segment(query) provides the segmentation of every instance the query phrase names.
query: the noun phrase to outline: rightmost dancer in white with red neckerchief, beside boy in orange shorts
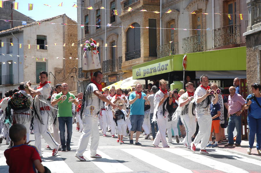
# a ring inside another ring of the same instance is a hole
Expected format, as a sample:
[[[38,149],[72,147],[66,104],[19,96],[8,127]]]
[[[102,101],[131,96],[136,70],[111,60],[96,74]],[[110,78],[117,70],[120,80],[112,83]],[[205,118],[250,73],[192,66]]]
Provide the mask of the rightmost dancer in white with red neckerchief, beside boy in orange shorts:
[[[212,117],[210,114],[210,103],[216,104],[218,102],[218,94],[210,95],[209,78],[206,75],[200,77],[201,85],[197,87],[194,97],[196,102],[196,117],[199,125],[199,131],[194,141],[191,143],[191,151],[196,151],[197,144],[200,143],[200,153],[209,154],[206,149],[206,145],[209,142],[209,136],[211,133]]]

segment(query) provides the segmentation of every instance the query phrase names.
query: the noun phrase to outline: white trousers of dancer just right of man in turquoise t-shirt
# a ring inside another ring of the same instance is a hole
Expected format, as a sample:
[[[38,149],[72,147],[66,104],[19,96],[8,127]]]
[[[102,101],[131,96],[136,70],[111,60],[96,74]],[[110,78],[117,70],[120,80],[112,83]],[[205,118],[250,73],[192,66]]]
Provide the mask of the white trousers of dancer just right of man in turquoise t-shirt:
[[[154,145],[159,145],[160,141],[162,141],[162,146],[168,146],[166,140],[166,129],[167,129],[168,118],[163,115],[157,115],[157,124],[158,124],[158,132],[153,141]]]

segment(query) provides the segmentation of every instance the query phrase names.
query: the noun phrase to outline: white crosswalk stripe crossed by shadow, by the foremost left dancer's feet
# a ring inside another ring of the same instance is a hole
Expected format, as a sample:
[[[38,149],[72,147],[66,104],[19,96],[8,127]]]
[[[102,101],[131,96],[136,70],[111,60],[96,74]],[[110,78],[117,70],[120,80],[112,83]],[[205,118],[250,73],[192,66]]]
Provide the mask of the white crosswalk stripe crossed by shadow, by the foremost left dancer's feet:
[[[84,157],[86,157],[88,160],[90,160],[92,163],[94,163],[98,168],[100,168],[105,173],[111,173],[111,172],[133,172],[130,168],[123,165],[122,163],[119,163],[115,159],[111,158],[107,154],[97,150],[97,153],[102,155],[101,159],[94,159],[90,157],[90,150],[87,150],[84,152]]]

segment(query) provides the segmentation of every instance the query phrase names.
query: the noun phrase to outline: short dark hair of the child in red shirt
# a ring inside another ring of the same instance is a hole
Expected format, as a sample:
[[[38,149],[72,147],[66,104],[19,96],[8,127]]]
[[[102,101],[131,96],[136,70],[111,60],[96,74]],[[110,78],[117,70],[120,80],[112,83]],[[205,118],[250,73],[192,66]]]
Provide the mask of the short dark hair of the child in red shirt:
[[[19,142],[26,135],[26,127],[23,124],[13,124],[9,129],[9,136],[13,142]]]

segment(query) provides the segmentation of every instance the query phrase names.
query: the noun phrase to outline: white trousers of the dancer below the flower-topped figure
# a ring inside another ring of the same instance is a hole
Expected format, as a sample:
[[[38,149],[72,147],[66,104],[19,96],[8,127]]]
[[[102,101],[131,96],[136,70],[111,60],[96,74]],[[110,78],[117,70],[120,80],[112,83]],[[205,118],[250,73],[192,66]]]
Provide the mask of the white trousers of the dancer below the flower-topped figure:
[[[98,119],[95,119],[90,116],[84,116],[82,119],[83,123],[83,130],[82,134],[77,146],[77,150],[75,155],[77,156],[83,156],[83,153],[85,152],[89,138],[91,136],[91,141],[90,141],[90,156],[95,156],[96,150],[99,145],[99,128],[98,128]]]

